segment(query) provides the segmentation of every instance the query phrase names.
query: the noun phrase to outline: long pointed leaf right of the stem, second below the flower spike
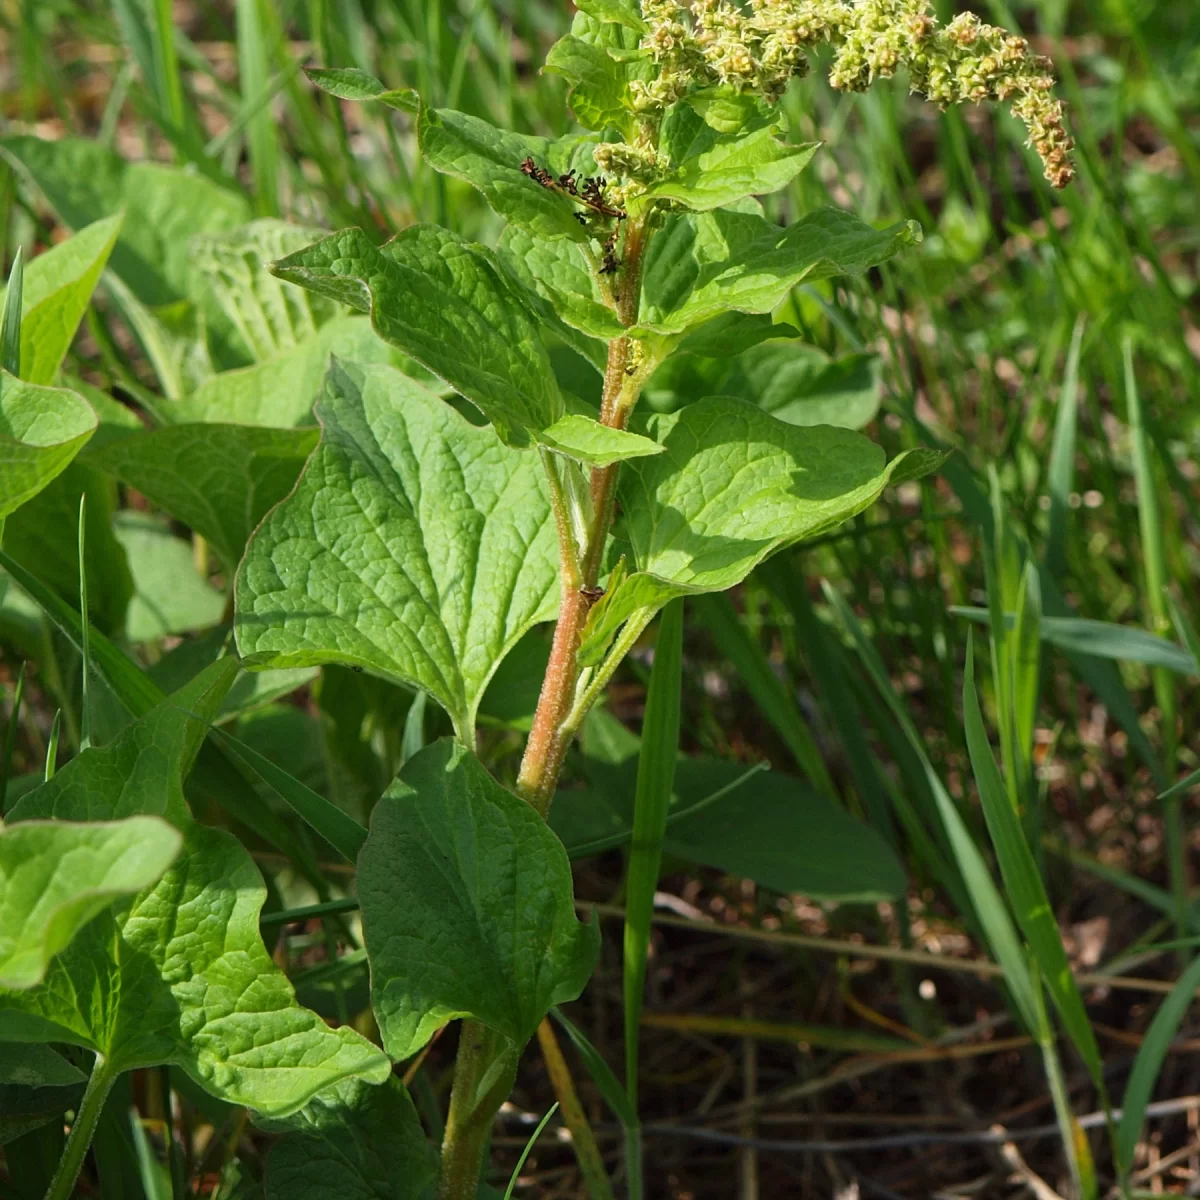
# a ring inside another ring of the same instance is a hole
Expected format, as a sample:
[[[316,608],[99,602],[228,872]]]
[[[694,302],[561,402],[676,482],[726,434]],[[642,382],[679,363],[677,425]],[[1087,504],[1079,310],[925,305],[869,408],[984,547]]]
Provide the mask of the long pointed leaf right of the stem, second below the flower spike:
[[[679,214],[646,256],[640,323],[664,334],[738,312],[772,312],[802,281],[858,275],[920,238],[914,222],[872,229],[818,209],[786,229],[754,212]]]

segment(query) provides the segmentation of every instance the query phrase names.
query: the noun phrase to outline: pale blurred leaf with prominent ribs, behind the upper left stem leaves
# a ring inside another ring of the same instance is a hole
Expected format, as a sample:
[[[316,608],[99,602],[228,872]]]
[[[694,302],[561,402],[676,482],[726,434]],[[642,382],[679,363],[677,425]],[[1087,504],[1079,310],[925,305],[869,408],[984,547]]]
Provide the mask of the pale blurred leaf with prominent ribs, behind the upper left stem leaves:
[[[192,239],[197,286],[229,314],[259,362],[308,341],[342,312],[328,298],[284,283],[268,270],[320,235],[319,229],[283,221],[254,221],[232,233]]]

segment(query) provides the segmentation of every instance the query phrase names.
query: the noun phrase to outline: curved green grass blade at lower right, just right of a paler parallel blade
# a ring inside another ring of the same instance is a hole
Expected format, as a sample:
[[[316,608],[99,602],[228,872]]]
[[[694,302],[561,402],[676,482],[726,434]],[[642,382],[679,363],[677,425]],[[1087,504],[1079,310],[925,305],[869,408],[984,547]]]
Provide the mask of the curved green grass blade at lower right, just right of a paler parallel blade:
[[[1000,874],[1016,923],[1030,943],[1068,1037],[1079,1050],[1093,1081],[1100,1085],[1103,1080],[1100,1051],[1087,1018],[1087,1009],[1084,1007],[1084,997],[1067,961],[1058,923],[1055,920],[1033,852],[1008,802],[1004,780],[988,743],[976,691],[974,649],[971,643],[967,647],[962,684],[962,710],[976,786],[979,788],[988,832],[996,848]]]

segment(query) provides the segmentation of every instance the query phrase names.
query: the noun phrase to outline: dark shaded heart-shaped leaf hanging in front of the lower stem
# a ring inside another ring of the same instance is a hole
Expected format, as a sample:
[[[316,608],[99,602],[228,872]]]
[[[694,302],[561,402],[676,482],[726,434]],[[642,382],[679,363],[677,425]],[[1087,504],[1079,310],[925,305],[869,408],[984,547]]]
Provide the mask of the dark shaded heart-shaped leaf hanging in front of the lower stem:
[[[478,758],[443,740],[410,758],[359,856],[372,1003],[396,1060],[469,1016],[517,1046],[583,990],[599,928],[575,917],[562,842]]]

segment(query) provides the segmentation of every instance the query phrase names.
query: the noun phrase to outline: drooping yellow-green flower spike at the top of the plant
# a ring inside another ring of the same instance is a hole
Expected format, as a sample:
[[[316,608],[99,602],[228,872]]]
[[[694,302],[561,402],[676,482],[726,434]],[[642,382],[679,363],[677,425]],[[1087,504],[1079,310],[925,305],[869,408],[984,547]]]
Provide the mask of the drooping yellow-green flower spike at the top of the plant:
[[[943,108],[1002,101],[1030,131],[1046,179],[1063,187],[1074,172],[1062,102],[1049,60],[1024,37],[972,13],[938,25],[929,0],[642,0],[642,48],[659,77],[635,85],[635,103],[661,110],[696,88],[732,86],[775,102],[808,68],[806,50],[835,49],[830,83],[860,91],[905,67],[912,90]]]

